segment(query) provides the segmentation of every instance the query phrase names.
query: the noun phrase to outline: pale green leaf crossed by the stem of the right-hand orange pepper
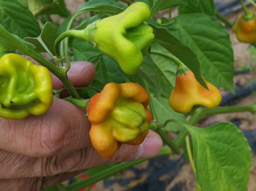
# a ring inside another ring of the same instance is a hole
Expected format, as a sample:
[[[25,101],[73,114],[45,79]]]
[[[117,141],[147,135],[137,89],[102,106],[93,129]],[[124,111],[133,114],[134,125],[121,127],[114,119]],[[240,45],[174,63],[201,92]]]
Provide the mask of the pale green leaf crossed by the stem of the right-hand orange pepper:
[[[168,52],[164,47],[156,42],[151,43],[151,51],[158,50]],[[160,81],[160,93],[162,96],[169,98],[171,90],[175,86],[177,64],[166,57],[151,54],[151,58],[155,63],[155,72]]]

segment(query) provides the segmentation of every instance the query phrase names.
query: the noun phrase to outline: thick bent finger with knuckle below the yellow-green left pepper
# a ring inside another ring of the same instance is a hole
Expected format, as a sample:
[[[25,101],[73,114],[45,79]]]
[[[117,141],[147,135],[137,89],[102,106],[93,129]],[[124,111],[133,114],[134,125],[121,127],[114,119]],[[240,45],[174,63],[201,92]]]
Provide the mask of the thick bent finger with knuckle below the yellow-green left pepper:
[[[0,118],[0,146],[31,157],[61,155],[90,145],[86,110],[54,98],[42,115],[22,120]]]

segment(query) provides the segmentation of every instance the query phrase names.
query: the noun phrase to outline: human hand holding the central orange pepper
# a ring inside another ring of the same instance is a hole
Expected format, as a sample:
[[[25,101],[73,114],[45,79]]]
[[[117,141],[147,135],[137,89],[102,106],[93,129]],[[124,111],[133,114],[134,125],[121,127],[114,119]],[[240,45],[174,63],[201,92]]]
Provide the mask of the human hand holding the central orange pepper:
[[[89,62],[73,62],[68,72],[76,87],[88,85],[94,74],[95,67]],[[63,87],[55,76],[52,80],[54,89]],[[43,115],[0,118],[0,190],[42,190],[89,168],[153,157],[162,149],[160,136],[150,131],[140,146],[123,145],[112,158],[103,158],[90,142],[86,113],[54,98]]]

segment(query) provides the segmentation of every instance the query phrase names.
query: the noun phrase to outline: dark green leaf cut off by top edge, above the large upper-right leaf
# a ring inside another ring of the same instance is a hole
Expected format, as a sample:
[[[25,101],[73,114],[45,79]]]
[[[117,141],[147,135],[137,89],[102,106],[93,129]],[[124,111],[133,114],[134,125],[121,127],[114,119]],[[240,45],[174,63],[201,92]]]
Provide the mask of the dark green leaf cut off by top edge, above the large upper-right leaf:
[[[205,13],[207,15],[214,16],[216,8],[214,5],[214,0],[183,0],[187,5],[179,6],[179,15],[189,14],[189,13]]]

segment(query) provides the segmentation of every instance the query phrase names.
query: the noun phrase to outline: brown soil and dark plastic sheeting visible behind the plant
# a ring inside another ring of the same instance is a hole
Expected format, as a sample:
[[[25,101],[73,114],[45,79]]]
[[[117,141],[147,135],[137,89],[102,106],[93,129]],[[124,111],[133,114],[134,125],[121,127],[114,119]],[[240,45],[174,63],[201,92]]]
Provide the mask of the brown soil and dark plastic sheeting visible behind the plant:
[[[219,0],[215,1],[218,2]],[[224,0],[223,2],[231,2],[232,0]],[[84,0],[65,0],[67,8],[71,13],[75,13],[84,3]],[[250,7],[251,10],[255,8]],[[173,16],[175,16],[173,11]],[[162,12],[163,15],[165,12]],[[177,13],[177,11],[176,11]],[[225,17],[234,23],[235,19],[243,14],[243,11],[237,10],[233,13],[226,15]],[[229,29],[231,43],[234,50],[235,70],[239,66],[243,66],[245,63],[250,63],[251,58],[248,54],[248,47],[250,45],[241,43],[236,39],[235,34]],[[249,85],[248,81],[254,81],[256,74],[254,72],[244,72],[236,74],[234,77],[234,85],[236,88],[246,87]],[[226,93],[221,89],[221,92]],[[232,104],[246,105],[254,102],[256,94],[251,93],[248,96],[242,96],[233,100]],[[238,121],[239,128],[244,134],[256,132],[256,115],[250,112],[239,113],[227,113],[208,116],[202,119],[196,126],[206,127],[209,124],[213,124],[219,121]],[[248,182],[248,191],[256,190],[256,133],[254,137],[248,138],[253,153],[252,167],[250,171],[250,180]],[[247,138],[247,137],[246,137]],[[123,170],[112,176],[107,180],[102,180],[96,183],[96,186],[91,191],[194,191],[196,188],[195,176],[192,172],[192,168],[189,162],[181,156],[174,156],[174,159],[170,160],[168,157],[160,157],[158,159],[145,161],[139,165],[135,165],[132,168]]]

